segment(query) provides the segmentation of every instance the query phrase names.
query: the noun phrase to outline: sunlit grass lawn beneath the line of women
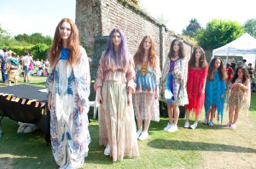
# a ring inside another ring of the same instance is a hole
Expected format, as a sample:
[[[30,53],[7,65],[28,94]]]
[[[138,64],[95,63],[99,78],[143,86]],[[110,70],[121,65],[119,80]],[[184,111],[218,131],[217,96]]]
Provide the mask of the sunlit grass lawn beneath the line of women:
[[[45,77],[32,76],[31,85],[44,87]],[[23,83],[20,78],[19,84]],[[0,86],[6,86],[0,83]],[[98,142],[98,121],[91,120],[89,156],[83,168],[256,168],[256,96],[252,95],[249,115],[240,115],[237,128],[201,125],[195,130],[183,128],[185,119],[179,119],[178,131],[165,132],[168,119],[151,122],[149,138],[138,141],[140,156],[113,162],[103,155]],[[190,117],[193,124],[195,117]],[[224,112],[224,122],[228,114]],[[0,168],[58,168],[50,146],[44,142],[44,132],[17,134],[16,121],[5,117],[0,138]]]

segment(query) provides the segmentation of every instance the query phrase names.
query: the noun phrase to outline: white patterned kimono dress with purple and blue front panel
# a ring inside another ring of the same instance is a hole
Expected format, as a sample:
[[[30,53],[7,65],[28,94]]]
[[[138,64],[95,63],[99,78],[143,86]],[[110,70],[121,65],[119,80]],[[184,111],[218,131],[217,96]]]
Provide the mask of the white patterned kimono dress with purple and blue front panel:
[[[166,100],[167,104],[172,99],[172,104],[189,104],[186,84],[188,77],[188,61],[186,58],[177,59],[174,68],[170,71],[171,60],[166,57],[166,63],[162,70],[160,80],[160,98]],[[172,92],[173,91],[173,92]]]

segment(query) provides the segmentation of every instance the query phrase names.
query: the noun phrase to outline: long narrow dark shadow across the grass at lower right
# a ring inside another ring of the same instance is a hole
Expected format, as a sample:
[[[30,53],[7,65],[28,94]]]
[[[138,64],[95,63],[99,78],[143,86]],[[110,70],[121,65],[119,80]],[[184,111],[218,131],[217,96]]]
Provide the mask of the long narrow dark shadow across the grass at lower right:
[[[154,149],[177,149],[194,151],[222,151],[236,153],[256,153],[256,149],[227,144],[209,144],[179,140],[154,139],[148,143]]]

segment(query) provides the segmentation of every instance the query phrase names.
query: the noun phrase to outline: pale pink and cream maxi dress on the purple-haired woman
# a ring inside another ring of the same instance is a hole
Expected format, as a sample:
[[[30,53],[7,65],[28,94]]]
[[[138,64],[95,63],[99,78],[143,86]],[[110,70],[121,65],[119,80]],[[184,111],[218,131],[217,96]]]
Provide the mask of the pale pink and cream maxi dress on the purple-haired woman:
[[[132,100],[129,106],[127,104],[127,88],[134,91],[136,86],[131,54],[129,58],[127,70],[119,69],[118,65],[115,70],[105,70],[101,58],[94,84],[95,90],[102,87],[99,142],[100,145],[109,145],[113,161],[139,155]]]

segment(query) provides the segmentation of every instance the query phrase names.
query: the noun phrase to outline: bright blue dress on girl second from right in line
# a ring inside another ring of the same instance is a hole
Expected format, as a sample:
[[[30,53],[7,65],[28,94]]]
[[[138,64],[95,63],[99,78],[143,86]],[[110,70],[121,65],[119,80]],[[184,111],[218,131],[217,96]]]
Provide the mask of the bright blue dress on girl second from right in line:
[[[206,97],[205,97],[205,111],[206,116],[213,104],[216,104],[216,110],[218,116],[221,115],[221,123],[223,121],[224,111],[224,97],[221,98],[222,94],[225,94],[225,82],[221,81],[218,76],[218,71],[214,72],[214,79],[209,81],[207,78],[206,83]]]

